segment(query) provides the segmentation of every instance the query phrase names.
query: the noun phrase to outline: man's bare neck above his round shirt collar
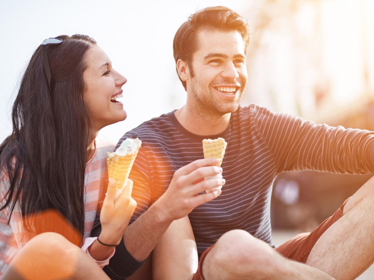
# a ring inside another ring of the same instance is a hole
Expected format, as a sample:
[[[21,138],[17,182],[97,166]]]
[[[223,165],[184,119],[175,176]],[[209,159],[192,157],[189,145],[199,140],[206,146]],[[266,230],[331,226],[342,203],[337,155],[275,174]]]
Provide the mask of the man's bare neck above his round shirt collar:
[[[222,133],[229,125],[231,113],[212,114],[206,111],[193,110],[186,104],[175,111],[174,115],[186,130],[203,136]]]

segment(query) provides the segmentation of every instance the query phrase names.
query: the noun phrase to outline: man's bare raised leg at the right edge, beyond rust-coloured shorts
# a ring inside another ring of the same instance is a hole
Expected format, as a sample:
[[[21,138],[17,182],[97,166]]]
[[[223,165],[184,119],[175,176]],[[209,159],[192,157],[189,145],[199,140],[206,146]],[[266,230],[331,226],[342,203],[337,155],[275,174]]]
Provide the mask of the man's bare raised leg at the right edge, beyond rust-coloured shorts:
[[[343,217],[318,239],[307,264],[337,279],[354,279],[374,262],[374,177],[353,195]]]

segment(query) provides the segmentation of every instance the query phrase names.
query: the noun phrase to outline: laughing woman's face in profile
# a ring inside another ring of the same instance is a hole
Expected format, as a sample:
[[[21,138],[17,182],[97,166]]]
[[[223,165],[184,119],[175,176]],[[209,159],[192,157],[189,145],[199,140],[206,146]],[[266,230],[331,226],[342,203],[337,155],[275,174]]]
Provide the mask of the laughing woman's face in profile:
[[[92,45],[86,53],[87,68],[83,72],[86,108],[90,114],[93,128],[101,128],[126,119],[122,102],[122,85],[126,78],[112,68],[106,53],[97,45]]]

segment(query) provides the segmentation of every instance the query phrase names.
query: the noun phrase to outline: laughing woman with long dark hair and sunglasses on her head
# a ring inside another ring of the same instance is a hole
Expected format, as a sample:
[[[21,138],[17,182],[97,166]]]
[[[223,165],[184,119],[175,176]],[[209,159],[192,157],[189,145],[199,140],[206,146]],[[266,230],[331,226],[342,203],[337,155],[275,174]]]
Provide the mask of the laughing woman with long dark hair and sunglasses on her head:
[[[97,135],[126,118],[116,100],[126,81],[86,35],[46,39],[33,53],[0,145],[2,279],[107,279],[100,266],[136,202],[131,181],[114,201],[116,181],[105,183],[114,146]],[[105,192],[102,232],[89,238]]]

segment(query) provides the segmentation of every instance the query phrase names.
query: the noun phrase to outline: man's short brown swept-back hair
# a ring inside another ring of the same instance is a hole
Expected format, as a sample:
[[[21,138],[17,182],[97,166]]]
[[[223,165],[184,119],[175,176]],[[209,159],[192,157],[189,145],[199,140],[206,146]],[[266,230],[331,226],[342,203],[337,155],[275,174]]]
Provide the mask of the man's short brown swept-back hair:
[[[178,59],[185,61],[190,67],[191,77],[194,76],[191,68],[192,56],[198,47],[197,33],[201,30],[238,31],[242,35],[245,50],[249,43],[248,22],[238,13],[223,6],[198,10],[180,26],[173,41],[175,63]],[[181,80],[180,77],[179,79]],[[186,82],[182,80],[181,82],[184,89],[187,90]]]

